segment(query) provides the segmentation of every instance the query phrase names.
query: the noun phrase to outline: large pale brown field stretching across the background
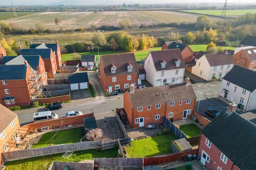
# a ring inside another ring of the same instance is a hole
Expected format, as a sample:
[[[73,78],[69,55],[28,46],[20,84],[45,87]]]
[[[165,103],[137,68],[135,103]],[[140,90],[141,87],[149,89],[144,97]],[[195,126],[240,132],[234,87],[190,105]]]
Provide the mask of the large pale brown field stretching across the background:
[[[35,28],[35,21],[41,21],[49,29],[89,28],[92,25],[115,25],[128,18],[132,25],[150,25],[157,23],[195,22],[197,14],[177,13],[172,11],[103,11],[103,12],[41,12],[13,18],[9,21],[24,29]],[[59,18],[56,25],[54,18]]]

